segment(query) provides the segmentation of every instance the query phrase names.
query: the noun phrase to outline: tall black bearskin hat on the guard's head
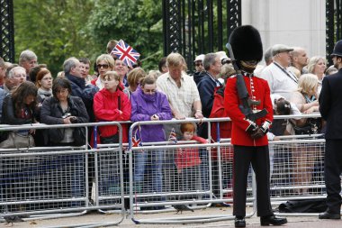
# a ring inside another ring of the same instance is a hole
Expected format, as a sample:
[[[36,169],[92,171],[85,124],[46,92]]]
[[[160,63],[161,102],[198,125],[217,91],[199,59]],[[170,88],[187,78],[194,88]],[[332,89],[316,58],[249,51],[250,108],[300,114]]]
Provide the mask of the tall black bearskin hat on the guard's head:
[[[263,59],[263,43],[260,33],[252,25],[242,25],[231,32],[229,43],[236,60]]]

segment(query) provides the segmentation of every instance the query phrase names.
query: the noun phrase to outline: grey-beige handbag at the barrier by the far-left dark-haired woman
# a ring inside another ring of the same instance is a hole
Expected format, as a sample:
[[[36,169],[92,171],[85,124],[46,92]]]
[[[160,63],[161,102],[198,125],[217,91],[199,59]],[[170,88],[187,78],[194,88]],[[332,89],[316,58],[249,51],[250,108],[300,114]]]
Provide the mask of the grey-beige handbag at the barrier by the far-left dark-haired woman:
[[[31,134],[22,135],[17,132],[10,132],[8,138],[0,143],[0,148],[2,149],[30,148],[34,146],[35,144]]]

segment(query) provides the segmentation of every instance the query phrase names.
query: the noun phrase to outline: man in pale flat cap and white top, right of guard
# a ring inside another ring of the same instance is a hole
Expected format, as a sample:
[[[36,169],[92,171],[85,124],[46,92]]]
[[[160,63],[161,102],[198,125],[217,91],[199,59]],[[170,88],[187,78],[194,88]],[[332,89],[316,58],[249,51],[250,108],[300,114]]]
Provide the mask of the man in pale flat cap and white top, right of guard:
[[[291,64],[290,51],[293,49],[284,44],[275,44],[272,47],[273,62],[260,74],[260,78],[268,82],[271,94],[284,96],[287,100],[298,87],[297,77],[287,69]]]

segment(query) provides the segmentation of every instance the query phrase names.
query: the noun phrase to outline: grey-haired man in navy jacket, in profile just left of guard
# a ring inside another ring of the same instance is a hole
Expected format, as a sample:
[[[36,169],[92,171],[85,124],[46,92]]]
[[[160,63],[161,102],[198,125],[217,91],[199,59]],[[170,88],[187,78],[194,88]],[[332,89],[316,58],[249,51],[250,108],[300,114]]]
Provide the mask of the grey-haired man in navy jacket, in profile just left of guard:
[[[199,75],[199,82],[197,83],[198,91],[200,91],[200,97],[202,102],[202,114],[204,117],[209,118],[211,114],[214,91],[217,87],[222,87],[222,84],[217,79],[220,74],[222,64],[220,56],[216,53],[206,54],[203,59],[203,67],[205,71],[202,71]],[[208,125],[202,124],[198,129],[198,134],[204,138],[208,138]]]

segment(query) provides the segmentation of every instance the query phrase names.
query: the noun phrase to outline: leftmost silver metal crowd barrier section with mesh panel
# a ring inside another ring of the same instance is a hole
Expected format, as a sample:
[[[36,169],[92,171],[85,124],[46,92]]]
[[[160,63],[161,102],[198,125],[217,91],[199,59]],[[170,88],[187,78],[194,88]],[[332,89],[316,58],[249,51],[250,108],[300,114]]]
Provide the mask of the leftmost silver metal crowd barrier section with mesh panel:
[[[0,149],[0,218],[18,216],[28,221],[120,208],[121,215],[116,216],[111,225],[121,223],[124,217],[121,160],[108,157],[103,162],[98,158],[103,154],[121,154],[122,143],[115,148],[88,146],[88,128],[102,125],[118,126],[121,142],[121,124],[115,122],[33,124],[0,128],[0,132],[5,132],[84,127],[86,137],[86,143],[81,147]],[[103,168],[109,163],[117,164],[117,169],[108,169],[107,166],[103,173],[104,169],[99,167]],[[94,167],[94,171],[89,166]],[[111,189],[113,178],[117,178],[118,189],[108,193],[108,190],[103,189]],[[96,184],[93,185],[93,181]],[[103,191],[107,191],[107,197],[102,198]],[[103,226],[103,221],[100,222]]]

